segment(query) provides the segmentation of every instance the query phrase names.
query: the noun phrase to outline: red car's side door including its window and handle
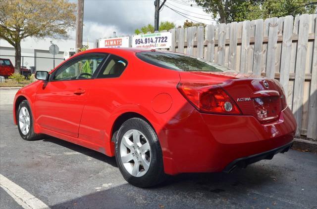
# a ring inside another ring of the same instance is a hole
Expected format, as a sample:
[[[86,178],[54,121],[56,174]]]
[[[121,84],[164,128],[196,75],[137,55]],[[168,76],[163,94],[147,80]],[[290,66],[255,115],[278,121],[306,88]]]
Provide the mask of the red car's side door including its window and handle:
[[[42,128],[78,137],[78,128],[95,73],[107,54],[84,54],[69,60],[37,90],[35,116]]]

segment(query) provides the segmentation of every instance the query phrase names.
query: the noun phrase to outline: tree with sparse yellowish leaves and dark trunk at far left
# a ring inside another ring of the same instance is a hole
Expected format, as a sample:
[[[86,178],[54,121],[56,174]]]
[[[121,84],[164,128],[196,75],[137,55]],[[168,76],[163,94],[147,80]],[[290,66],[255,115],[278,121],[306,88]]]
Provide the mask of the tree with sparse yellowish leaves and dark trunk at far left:
[[[21,67],[21,41],[67,38],[67,30],[75,26],[75,10],[68,0],[0,0],[0,39],[15,48],[15,73]]]

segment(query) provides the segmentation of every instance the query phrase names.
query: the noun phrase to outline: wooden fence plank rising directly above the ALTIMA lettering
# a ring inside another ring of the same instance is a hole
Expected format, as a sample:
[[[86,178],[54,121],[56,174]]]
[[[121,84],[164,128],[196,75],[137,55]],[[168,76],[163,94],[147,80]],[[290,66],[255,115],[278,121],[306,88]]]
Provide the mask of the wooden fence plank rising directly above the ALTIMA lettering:
[[[250,20],[243,21],[242,23],[242,43],[241,43],[241,58],[240,58],[240,72],[248,73],[248,53],[250,46]]]

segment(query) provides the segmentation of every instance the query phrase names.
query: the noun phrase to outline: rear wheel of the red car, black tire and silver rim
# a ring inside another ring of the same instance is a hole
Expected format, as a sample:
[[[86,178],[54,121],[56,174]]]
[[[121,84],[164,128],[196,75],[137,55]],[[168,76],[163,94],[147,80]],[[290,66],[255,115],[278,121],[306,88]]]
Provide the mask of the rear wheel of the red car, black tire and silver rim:
[[[140,118],[129,119],[119,128],[115,139],[115,159],[124,179],[134,186],[151,187],[167,177],[158,136],[151,125]],[[127,162],[129,159],[131,161]],[[139,162],[135,164],[135,161]]]

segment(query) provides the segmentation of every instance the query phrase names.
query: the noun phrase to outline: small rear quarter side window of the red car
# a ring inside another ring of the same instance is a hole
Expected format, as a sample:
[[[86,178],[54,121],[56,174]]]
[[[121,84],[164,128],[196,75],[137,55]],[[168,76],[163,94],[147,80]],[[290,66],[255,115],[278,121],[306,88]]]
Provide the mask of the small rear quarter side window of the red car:
[[[128,62],[116,55],[111,54],[106,61],[105,68],[103,68],[97,78],[115,78],[119,77],[124,69],[127,67]]]

